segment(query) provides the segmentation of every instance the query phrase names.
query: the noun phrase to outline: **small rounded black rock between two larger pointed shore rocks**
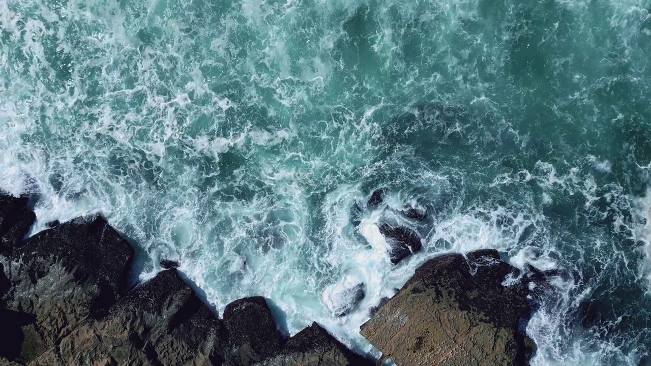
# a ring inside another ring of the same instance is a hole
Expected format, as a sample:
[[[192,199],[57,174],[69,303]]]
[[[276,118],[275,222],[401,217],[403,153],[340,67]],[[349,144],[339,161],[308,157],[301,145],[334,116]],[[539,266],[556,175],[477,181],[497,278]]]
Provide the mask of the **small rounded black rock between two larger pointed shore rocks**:
[[[243,298],[227,305],[224,325],[228,345],[223,350],[227,363],[247,366],[278,354],[281,333],[276,328],[266,300]]]

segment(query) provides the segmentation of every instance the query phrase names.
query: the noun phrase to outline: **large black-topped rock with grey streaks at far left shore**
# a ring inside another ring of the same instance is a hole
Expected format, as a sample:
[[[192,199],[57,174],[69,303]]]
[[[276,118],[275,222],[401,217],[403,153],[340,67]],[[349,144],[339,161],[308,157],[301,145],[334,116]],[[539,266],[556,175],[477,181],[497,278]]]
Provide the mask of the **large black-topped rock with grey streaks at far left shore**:
[[[133,249],[102,218],[39,232],[0,257],[8,310],[33,315],[18,361],[29,362],[126,292]]]

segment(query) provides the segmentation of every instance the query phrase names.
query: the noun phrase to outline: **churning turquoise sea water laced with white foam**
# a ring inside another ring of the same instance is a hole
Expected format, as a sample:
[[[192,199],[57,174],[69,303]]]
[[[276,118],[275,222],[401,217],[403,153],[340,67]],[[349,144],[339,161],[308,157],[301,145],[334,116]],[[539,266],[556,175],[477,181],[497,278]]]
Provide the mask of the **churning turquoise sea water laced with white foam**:
[[[649,0],[0,0],[0,188],[101,212],[143,278],[360,352],[440,253],[557,270],[534,365],[651,347]],[[385,188],[379,207],[366,204]],[[406,218],[405,208],[427,212]],[[382,222],[423,250],[391,266]],[[333,315],[365,283],[366,296]]]

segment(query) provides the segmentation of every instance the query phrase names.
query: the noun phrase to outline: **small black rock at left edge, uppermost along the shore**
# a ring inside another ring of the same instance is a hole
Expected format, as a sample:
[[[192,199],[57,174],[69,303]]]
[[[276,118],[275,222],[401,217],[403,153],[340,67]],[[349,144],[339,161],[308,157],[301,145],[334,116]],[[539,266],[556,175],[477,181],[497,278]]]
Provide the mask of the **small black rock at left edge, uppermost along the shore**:
[[[0,193],[0,253],[20,246],[36,215],[27,208],[27,197],[11,197]]]

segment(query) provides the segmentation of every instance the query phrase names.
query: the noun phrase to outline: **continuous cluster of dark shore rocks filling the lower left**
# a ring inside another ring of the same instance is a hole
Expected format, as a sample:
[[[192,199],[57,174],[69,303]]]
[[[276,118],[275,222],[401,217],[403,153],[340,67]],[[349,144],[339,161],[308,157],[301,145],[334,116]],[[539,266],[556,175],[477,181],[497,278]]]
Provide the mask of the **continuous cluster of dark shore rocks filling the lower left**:
[[[170,261],[130,287],[133,248],[100,217],[23,240],[34,220],[0,195],[0,365],[372,365],[316,323],[284,339],[264,298],[218,318]]]

